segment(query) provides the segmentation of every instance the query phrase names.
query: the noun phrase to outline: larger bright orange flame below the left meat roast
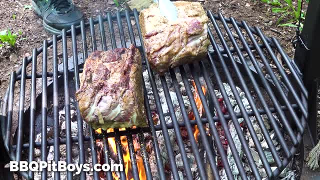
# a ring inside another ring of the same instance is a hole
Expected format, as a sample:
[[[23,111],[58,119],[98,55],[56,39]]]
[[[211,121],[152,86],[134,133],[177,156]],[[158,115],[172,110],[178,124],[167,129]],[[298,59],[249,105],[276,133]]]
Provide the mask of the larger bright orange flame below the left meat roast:
[[[133,126],[132,128],[136,128],[136,127]],[[125,128],[119,128],[119,130],[125,130]],[[95,132],[101,133],[101,128],[96,129]],[[113,132],[113,129],[109,128],[106,130],[106,132]],[[131,166],[131,159],[130,159],[128,142],[127,142],[126,136],[121,136],[120,140],[121,140],[121,146],[122,146],[124,171],[125,171],[126,179],[132,180],[133,177],[130,174],[132,172],[132,166]],[[116,145],[115,145],[114,137],[109,137],[108,143],[109,143],[109,147],[111,147],[110,150],[116,153]],[[137,152],[138,150],[140,150],[140,145],[135,140],[133,140],[133,146],[134,146],[134,152]],[[136,163],[138,167],[139,178],[146,179],[142,157],[136,153],[135,158],[136,158]],[[113,179],[115,180],[119,179],[119,177],[115,172],[112,172],[112,176],[113,176]]]

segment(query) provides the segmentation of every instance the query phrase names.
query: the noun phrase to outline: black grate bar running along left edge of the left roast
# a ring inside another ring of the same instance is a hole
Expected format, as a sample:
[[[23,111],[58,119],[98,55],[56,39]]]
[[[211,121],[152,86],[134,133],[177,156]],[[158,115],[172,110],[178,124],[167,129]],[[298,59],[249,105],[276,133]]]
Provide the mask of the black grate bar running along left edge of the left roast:
[[[79,72],[78,72],[78,56],[77,56],[77,45],[76,45],[76,32],[74,25],[71,25],[71,36],[72,36],[72,55],[73,55],[73,68],[74,68],[74,85],[75,90],[80,87]],[[84,53],[83,53],[84,54]],[[76,114],[80,114],[79,104],[75,101],[74,106],[76,108]],[[84,156],[84,140],[83,140],[83,122],[81,115],[76,115],[77,132],[78,132],[78,146],[79,146],[79,164],[85,163]],[[85,172],[81,171],[80,179],[84,180]]]

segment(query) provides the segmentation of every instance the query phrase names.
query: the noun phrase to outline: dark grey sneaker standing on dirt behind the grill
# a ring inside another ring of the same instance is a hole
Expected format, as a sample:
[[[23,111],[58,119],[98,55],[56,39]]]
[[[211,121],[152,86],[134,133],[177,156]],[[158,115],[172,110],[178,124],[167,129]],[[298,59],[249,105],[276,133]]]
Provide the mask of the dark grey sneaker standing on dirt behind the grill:
[[[83,14],[70,0],[32,0],[32,8],[43,20],[48,32],[60,34],[63,28],[79,24]]]

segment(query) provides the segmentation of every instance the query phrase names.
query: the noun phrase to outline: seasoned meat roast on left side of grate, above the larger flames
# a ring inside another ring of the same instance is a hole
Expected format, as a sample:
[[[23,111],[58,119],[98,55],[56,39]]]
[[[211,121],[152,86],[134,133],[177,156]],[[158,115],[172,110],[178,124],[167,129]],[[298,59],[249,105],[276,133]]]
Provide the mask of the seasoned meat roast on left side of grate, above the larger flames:
[[[86,59],[76,99],[93,128],[146,126],[139,50],[94,51]]]

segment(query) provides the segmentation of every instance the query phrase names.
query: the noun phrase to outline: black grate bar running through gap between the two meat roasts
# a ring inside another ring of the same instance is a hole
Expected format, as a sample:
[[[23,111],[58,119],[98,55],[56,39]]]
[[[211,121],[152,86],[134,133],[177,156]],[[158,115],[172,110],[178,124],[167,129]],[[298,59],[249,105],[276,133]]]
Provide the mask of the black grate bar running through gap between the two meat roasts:
[[[138,35],[139,35],[140,42],[142,42],[143,40],[142,40],[141,29],[140,29],[140,25],[139,25],[139,17],[138,17],[138,12],[136,11],[136,9],[133,9],[133,15],[134,15],[134,20],[135,20],[135,25],[136,25],[137,31],[139,32]],[[144,58],[145,58],[145,51],[144,51],[143,43],[141,43],[141,45],[142,45],[142,51],[143,51]],[[145,107],[146,114],[147,114],[148,125],[151,128],[152,145],[154,147],[154,153],[155,153],[155,157],[156,157],[156,165],[158,167],[160,179],[164,180],[165,175],[164,175],[163,163],[161,160],[159,145],[157,143],[157,137],[156,137],[153,119],[152,119],[152,115],[151,115],[150,104],[149,104],[149,101],[147,100],[148,96],[146,94],[147,92],[146,92],[143,77],[142,77],[142,87],[143,87],[143,95],[144,95],[144,107]],[[176,177],[176,175],[175,175],[175,177]]]

